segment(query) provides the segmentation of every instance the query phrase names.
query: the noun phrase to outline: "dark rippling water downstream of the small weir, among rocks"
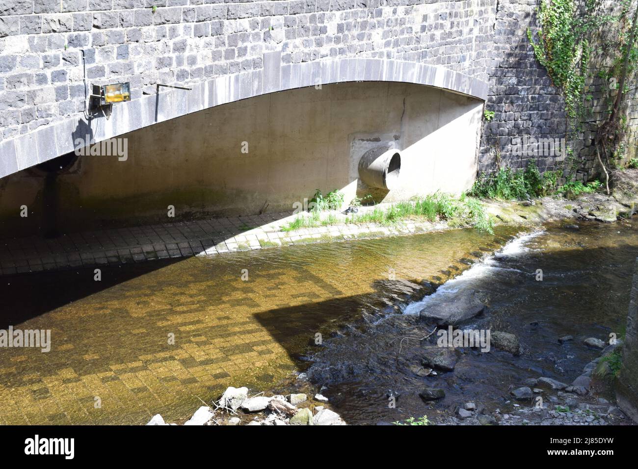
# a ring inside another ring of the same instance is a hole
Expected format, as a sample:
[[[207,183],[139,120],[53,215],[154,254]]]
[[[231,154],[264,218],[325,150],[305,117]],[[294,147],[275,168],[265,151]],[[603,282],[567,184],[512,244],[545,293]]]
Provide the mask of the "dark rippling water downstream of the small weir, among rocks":
[[[582,345],[591,336],[606,340],[623,334],[638,230],[633,223],[582,224],[579,229],[548,227],[510,241],[496,255],[475,264],[461,276],[379,322],[374,330],[338,338],[312,357],[308,376],[347,421],[375,423],[427,414],[436,418],[454,406],[475,401],[503,408],[510,385],[526,378],[551,376],[571,382],[587,362],[598,356]],[[537,270],[543,273],[537,281]],[[418,318],[429,301],[475,290],[487,313],[463,328],[516,334],[523,353],[513,357],[492,350],[484,354],[463,349],[451,373],[419,378],[409,367],[420,365],[431,331]],[[560,345],[558,338],[575,340]],[[418,393],[440,387],[446,397],[426,405]],[[399,394],[397,408],[387,395]]]

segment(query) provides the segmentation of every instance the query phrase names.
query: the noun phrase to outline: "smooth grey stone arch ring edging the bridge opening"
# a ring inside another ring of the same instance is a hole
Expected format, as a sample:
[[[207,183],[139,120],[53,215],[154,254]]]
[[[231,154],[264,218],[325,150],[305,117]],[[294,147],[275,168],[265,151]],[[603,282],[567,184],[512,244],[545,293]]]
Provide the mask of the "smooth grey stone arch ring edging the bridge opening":
[[[202,80],[190,85],[189,90],[158,87],[156,94],[114,104],[108,118],[74,117],[4,140],[0,142],[0,177],[70,153],[87,143],[206,108],[267,93],[345,82],[412,83],[480,100],[486,100],[488,89],[488,84],[478,78],[441,66],[363,57],[284,64],[281,51],[266,52],[260,70]]]

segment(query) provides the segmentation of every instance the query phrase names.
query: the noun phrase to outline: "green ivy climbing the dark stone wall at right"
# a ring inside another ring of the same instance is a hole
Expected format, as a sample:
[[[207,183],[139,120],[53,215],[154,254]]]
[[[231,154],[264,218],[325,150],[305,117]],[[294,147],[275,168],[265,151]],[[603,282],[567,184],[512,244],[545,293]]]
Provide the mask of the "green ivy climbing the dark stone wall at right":
[[[607,182],[609,175],[603,160],[609,165],[609,155],[622,147],[620,134],[627,116],[621,115],[620,105],[629,91],[627,83],[638,60],[637,2],[540,0],[537,29],[534,32],[528,29],[535,56],[565,98],[571,130],[581,130],[582,121],[586,120],[583,119],[585,111],[591,114],[593,110],[591,95],[586,94],[588,78],[593,75],[604,78],[605,87],[609,82],[609,111],[597,126],[593,139]],[[602,60],[590,64],[593,47]],[[572,136],[575,135],[572,132]],[[606,186],[609,192],[609,184]]]

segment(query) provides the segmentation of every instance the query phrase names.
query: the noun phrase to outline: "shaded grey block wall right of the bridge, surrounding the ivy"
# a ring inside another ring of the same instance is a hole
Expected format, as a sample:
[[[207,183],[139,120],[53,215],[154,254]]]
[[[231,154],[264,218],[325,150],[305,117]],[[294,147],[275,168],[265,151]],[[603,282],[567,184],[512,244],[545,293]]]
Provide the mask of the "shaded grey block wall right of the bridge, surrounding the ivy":
[[[613,4],[609,2],[609,5]],[[581,129],[575,135],[568,135],[564,100],[545,69],[535,59],[526,33],[528,27],[533,31],[536,29],[537,5],[537,0],[505,0],[496,4],[492,38],[494,68],[489,72],[490,91],[486,103],[486,109],[495,114],[491,122],[484,123],[479,172],[493,172],[499,167],[516,170],[527,167],[530,160],[535,160],[541,172],[562,170],[564,178],[561,182],[570,177],[586,181],[600,174],[593,138],[597,125],[609,108],[605,102],[607,84],[597,75],[588,79],[586,94],[591,96],[588,110],[580,122]],[[590,61],[592,66],[605,63],[605,50],[594,47],[594,51]],[[629,117],[625,160],[636,156],[637,105],[638,94],[634,90],[623,103]],[[531,145],[528,151],[524,151],[525,148],[521,151],[521,143],[530,142],[532,138],[565,138],[566,143],[574,148],[573,157],[564,151],[559,154],[551,149],[533,154]]]

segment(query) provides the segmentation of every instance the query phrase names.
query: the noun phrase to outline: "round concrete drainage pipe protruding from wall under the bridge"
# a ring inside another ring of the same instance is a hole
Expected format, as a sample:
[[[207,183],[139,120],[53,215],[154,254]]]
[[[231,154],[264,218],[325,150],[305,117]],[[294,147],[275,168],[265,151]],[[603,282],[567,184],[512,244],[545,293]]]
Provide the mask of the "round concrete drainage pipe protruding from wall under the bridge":
[[[367,186],[385,190],[397,187],[401,170],[401,154],[397,149],[375,147],[359,160],[359,177]]]

